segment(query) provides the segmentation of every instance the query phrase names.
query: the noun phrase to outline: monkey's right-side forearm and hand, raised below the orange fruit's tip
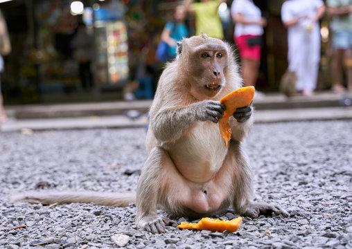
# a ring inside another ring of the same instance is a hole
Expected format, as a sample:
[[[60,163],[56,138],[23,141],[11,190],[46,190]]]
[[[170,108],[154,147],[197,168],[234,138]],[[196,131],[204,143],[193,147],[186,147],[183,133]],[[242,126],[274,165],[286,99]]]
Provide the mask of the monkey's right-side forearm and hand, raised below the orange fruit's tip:
[[[252,110],[252,103],[248,107],[238,108],[236,110],[234,118],[230,119],[232,140],[242,141],[249,133],[253,125]]]

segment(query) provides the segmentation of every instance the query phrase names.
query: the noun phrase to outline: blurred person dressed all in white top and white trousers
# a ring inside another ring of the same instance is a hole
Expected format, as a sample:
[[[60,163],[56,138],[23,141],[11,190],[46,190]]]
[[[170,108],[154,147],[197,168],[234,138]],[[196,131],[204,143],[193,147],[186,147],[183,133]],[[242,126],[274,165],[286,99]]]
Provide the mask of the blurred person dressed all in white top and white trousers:
[[[281,7],[281,19],[288,28],[288,71],[296,73],[296,89],[303,95],[312,95],[317,86],[319,19],[324,12],[322,0],[288,0]]]

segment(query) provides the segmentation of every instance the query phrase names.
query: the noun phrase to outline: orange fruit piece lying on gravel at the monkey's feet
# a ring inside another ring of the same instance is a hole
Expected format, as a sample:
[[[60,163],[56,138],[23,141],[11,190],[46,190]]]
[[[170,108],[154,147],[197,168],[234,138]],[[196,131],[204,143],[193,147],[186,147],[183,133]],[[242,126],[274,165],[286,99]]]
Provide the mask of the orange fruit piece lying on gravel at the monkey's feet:
[[[224,232],[225,230],[229,232],[235,232],[240,228],[242,223],[242,217],[239,216],[236,219],[231,219],[231,221],[220,221],[219,219],[203,218],[198,223],[188,223],[182,222],[177,225],[177,228],[183,229],[197,229],[197,230],[210,230],[211,232]]]

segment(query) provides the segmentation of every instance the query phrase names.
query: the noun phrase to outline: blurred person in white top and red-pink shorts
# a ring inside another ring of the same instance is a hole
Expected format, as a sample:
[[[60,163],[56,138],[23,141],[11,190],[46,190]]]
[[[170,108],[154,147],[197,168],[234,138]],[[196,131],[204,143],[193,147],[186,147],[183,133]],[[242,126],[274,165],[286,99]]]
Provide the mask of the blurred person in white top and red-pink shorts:
[[[234,41],[240,53],[244,84],[256,86],[261,63],[261,35],[267,21],[261,17],[261,10],[252,0],[234,0],[231,17],[235,22]],[[256,98],[263,96],[256,91]]]

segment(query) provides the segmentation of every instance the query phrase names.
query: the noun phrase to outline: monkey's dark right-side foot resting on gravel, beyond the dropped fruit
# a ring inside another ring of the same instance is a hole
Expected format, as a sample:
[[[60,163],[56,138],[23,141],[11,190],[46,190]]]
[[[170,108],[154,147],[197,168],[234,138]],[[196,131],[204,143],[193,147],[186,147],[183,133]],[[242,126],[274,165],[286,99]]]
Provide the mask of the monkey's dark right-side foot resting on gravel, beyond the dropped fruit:
[[[254,219],[258,218],[261,214],[268,215],[272,213],[277,215],[281,214],[284,217],[288,217],[288,212],[277,205],[270,205],[267,203],[252,203],[247,206],[243,214]]]

